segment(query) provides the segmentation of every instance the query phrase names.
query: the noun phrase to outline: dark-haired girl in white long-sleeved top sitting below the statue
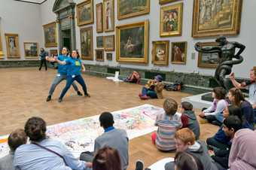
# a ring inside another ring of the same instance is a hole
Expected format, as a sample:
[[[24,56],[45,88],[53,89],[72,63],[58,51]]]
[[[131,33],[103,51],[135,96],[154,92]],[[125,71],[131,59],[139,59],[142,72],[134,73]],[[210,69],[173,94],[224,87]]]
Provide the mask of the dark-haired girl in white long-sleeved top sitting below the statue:
[[[206,119],[209,123],[221,126],[223,122],[223,111],[228,105],[225,100],[225,96],[226,91],[223,87],[215,87],[212,91],[212,97],[214,100],[211,107],[203,110],[199,116]]]

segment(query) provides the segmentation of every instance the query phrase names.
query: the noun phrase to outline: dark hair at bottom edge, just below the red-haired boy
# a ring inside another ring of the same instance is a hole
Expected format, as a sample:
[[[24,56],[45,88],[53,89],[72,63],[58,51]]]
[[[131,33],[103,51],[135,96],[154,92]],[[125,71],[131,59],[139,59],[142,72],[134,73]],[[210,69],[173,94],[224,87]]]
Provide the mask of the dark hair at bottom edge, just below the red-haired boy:
[[[175,154],[174,160],[177,170],[204,170],[200,159],[189,153],[178,152]]]

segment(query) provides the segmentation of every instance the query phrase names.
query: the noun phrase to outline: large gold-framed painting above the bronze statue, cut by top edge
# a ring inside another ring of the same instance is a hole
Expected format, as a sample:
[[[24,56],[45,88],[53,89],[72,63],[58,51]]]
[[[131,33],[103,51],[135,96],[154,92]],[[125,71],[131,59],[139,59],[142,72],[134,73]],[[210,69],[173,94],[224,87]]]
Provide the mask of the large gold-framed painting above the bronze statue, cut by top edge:
[[[192,37],[238,35],[242,0],[194,0]]]

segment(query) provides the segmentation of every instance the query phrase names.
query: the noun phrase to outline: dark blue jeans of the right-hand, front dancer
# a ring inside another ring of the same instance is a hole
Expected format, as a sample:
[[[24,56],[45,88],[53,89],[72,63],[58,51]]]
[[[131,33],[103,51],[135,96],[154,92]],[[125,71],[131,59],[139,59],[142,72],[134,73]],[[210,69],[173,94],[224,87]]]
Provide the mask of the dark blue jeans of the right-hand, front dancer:
[[[72,75],[68,75],[66,87],[62,90],[62,93],[59,96],[60,99],[62,99],[66,95],[67,91],[75,80],[81,85],[81,87],[83,87],[84,95],[87,95],[87,86],[84,83],[84,78],[81,75],[77,75],[75,77],[72,77]]]

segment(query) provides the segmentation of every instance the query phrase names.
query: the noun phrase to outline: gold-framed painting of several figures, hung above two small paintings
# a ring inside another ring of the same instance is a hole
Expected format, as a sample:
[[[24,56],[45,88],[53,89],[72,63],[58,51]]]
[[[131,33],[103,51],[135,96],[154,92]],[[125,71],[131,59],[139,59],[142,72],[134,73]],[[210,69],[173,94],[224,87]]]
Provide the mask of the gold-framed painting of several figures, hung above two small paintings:
[[[181,36],[183,3],[162,7],[160,10],[160,36]]]

